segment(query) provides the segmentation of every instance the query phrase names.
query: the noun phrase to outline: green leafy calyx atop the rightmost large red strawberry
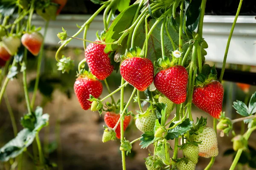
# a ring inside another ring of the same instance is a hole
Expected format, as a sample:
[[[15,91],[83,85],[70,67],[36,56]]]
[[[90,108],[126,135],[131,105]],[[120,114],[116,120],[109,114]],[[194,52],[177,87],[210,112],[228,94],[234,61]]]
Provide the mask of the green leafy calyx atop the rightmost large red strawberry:
[[[212,81],[217,79],[217,71],[215,69],[215,65],[210,68],[208,64],[205,64],[202,68],[202,73],[198,74],[195,80],[196,87],[204,87]]]

